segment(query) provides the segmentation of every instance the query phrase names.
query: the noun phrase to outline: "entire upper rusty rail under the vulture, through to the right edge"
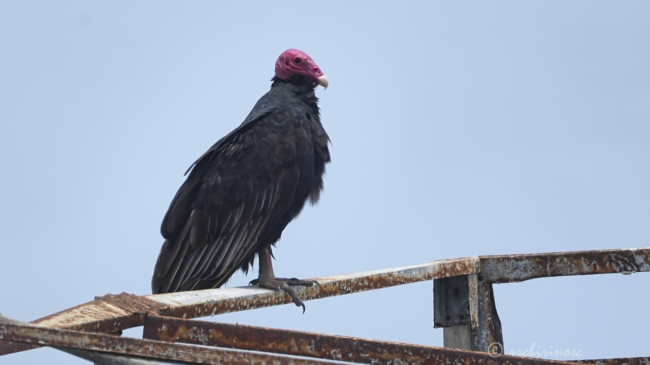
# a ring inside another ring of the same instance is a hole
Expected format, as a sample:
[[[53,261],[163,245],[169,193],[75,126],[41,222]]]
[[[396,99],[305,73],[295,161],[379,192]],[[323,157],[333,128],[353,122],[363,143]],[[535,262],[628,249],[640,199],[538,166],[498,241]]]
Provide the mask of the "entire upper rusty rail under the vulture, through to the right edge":
[[[485,283],[514,283],[536,277],[650,271],[650,249],[614,249],[440,260],[428,264],[316,278],[321,285],[297,288],[304,300],[350,294],[399,284],[478,273]],[[155,296],[98,297],[32,323],[61,329],[114,332],[142,325],[146,314],[196,318],[291,303],[283,292],[257,287],[222,288]],[[474,320],[474,317],[472,318]],[[38,345],[0,341],[0,355]]]

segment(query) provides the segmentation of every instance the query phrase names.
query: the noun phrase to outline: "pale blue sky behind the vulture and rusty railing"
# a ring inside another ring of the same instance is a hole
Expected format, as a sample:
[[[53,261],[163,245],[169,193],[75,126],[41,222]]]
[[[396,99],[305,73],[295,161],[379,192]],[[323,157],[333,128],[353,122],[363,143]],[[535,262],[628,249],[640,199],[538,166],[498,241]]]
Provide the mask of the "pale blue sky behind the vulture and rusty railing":
[[[149,294],[183,172],[292,47],[330,79],[332,163],[274,251],[278,275],[650,246],[649,17],[645,1],[0,1],[0,312]],[[496,286],[506,352],[648,356],[648,283]],[[213,320],[442,346],[431,288]],[[0,357],[37,362],[85,363]]]

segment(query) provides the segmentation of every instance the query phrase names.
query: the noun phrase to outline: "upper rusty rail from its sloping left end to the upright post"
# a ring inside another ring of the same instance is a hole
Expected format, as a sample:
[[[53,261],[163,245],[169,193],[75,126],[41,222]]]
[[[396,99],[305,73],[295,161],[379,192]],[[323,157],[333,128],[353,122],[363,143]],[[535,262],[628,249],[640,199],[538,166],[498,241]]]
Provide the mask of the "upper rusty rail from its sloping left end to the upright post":
[[[309,288],[296,288],[296,291],[303,300],[309,300],[385,288],[387,286],[416,283],[437,277],[475,273],[477,271],[478,258],[456,258],[404,268],[316,278],[320,285]],[[140,297],[127,293],[116,296],[107,294],[106,296],[97,297],[94,301],[63,310],[31,323],[44,327],[110,333],[142,325],[144,316],[147,313],[196,318],[291,302],[291,298],[284,292],[274,292],[257,286],[196,290],[193,292]],[[0,341],[0,355],[35,347],[38,346],[7,344]]]

